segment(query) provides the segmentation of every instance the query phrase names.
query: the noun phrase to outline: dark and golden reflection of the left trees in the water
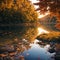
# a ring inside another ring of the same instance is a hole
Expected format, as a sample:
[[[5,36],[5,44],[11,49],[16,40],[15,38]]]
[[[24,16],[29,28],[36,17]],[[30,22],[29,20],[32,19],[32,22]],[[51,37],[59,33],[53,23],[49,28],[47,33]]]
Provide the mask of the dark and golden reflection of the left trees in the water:
[[[38,31],[36,27],[33,26],[10,26],[10,27],[3,27],[4,31],[3,34],[0,32],[0,43],[1,42],[13,42],[15,38],[18,39],[18,41],[22,39],[26,39],[28,41],[34,41],[34,39],[38,35]]]

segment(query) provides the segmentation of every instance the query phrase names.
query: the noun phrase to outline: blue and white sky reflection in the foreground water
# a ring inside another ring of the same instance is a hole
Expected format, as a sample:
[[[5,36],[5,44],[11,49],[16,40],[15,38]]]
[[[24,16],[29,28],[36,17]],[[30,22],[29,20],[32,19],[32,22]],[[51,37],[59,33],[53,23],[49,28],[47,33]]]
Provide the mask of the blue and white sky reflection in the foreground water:
[[[31,43],[31,48],[22,53],[25,60],[54,60],[53,57],[55,53],[48,52],[50,45],[41,46],[36,42],[37,40],[35,40],[34,43]]]

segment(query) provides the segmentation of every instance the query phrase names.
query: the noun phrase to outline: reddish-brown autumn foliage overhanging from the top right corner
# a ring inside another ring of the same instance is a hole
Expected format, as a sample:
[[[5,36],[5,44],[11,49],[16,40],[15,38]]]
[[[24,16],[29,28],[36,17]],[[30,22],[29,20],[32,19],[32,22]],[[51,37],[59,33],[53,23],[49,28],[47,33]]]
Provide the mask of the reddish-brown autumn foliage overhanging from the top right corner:
[[[49,11],[51,16],[56,16],[56,27],[60,29],[60,0],[39,0],[38,3],[34,4],[39,5],[37,10],[39,10],[41,14]]]

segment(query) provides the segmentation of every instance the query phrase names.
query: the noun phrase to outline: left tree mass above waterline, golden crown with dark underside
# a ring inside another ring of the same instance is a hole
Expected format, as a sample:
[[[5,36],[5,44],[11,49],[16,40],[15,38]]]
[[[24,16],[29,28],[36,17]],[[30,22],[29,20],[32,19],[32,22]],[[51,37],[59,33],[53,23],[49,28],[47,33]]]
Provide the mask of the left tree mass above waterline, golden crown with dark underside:
[[[1,0],[0,13],[0,20],[9,23],[36,22],[38,20],[34,6],[28,0]]]

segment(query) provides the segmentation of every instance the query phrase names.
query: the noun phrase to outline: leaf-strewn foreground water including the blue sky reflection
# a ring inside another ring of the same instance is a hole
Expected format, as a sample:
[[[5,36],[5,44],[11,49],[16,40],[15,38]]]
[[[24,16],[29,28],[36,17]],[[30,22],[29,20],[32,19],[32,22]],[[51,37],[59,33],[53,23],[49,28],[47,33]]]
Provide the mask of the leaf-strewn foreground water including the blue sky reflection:
[[[41,42],[35,39],[31,43],[23,39],[13,45],[6,45],[0,48],[0,60],[54,60],[55,54],[59,58],[57,55],[59,55],[60,50],[58,53],[50,53],[48,51],[51,46],[49,44],[40,44]]]

